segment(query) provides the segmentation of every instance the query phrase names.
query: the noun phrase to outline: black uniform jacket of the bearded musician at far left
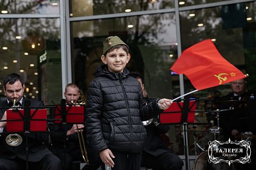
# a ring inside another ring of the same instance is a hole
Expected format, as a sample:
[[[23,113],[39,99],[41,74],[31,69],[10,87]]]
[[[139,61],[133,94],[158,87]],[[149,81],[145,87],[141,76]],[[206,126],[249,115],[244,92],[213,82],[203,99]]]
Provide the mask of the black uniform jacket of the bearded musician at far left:
[[[23,97],[22,106],[24,106],[25,97]],[[39,106],[40,102],[31,100],[31,106]],[[8,107],[7,100],[1,101],[0,107]],[[3,117],[6,109],[0,109],[0,119]],[[4,128],[5,131],[5,128]],[[26,160],[26,138],[23,133],[19,133],[22,137],[22,143],[19,146],[9,146],[5,142],[5,138],[9,134],[2,134],[0,136],[0,158],[15,159],[16,157]],[[45,147],[44,142],[47,141],[47,134],[43,133],[29,133],[28,134],[28,161],[38,162],[46,154],[51,154],[50,150]]]

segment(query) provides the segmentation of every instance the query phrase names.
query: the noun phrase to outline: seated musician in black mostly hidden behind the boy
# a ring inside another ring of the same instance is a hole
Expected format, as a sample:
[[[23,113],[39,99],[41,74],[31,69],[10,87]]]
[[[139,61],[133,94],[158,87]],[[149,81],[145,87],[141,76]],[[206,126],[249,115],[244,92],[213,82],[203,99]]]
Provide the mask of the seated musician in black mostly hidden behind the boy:
[[[137,72],[131,72],[130,75],[135,77],[142,86],[143,96],[147,103],[151,99],[147,97],[145,91],[142,75]],[[147,140],[142,152],[141,165],[153,170],[180,170],[184,162],[178,155],[172,151],[163,142],[160,134],[166,134],[170,129],[169,125],[160,124],[157,117],[153,118],[152,123],[145,125],[147,130]]]

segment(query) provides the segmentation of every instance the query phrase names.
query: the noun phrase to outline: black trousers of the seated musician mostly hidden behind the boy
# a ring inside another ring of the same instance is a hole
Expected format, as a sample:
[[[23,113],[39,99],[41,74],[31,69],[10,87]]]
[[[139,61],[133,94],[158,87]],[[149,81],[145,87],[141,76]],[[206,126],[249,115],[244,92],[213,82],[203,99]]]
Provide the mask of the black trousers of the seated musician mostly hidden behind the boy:
[[[167,152],[160,156],[153,156],[142,152],[142,166],[154,170],[181,170],[184,165],[178,155]]]

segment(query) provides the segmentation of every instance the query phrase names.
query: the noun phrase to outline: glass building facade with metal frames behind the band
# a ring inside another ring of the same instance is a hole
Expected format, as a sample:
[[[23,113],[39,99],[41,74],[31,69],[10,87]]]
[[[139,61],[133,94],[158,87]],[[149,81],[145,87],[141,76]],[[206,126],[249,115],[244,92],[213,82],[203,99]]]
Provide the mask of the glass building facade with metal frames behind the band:
[[[111,35],[129,45],[127,68],[143,75],[150,97],[174,98],[194,90],[185,75],[169,68],[184,49],[205,39],[211,39],[226,60],[249,74],[247,90],[254,91],[255,9],[252,0],[3,0],[1,99],[2,80],[13,72],[25,79],[26,96],[44,100],[46,105],[51,100],[60,102],[67,83],[76,83],[86,95],[101,63],[102,41]],[[229,84],[225,84],[193,96],[215,98],[228,92]],[[200,107],[205,109],[205,103]],[[198,116],[200,121],[205,116]],[[173,128],[168,138],[174,152],[182,155],[179,135],[179,128]]]

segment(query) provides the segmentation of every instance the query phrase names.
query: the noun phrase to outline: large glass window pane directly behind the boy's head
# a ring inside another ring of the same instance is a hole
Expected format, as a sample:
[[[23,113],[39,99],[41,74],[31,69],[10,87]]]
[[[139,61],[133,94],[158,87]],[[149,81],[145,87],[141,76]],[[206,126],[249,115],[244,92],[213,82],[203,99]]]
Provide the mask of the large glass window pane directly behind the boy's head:
[[[102,42],[110,35],[119,35],[130,46],[127,68],[144,75],[151,97],[172,97],[172,81],[179,91],[179,77],[172,77],[169,70],[177,58],[174,14],[72,22],[71,27],[73,78],[83,91],[94,79],[96,66],[101,64]]]

